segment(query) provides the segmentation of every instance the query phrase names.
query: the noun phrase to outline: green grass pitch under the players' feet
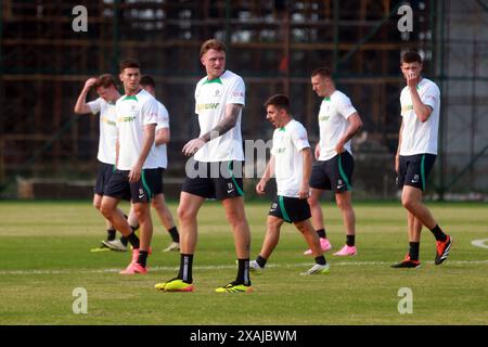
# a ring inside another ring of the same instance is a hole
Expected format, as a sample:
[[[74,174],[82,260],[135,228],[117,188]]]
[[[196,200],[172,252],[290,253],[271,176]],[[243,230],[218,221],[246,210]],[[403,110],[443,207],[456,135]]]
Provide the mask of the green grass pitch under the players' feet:
[[[179,255],[153,214],[155,234],[147,275],[121,277],[128,253],[90,253],[105,236],[89,202],[0,202],[0,324],[487,324],[488,249],[471,241],[488,237],[486,204],[428,204],[453,235],[449,259],[434,266],[435,242],[424,230],[423,267],[389,265],[407,250],[406,214],[399,203],[357,203],[354,258],[328,253],[330,275],[300,277],[312,265],[290,224],[255,292],[216,294],[235,277],[232,234],[223,210],[206,203],[200,214],[194,293],[159,293],[155,283],[177,273]],[[123,205],[127,209],[127,205]],[[176,211],[176,203],[170,209]],[[344,243],[342,219],[323,205],[334,249]],[[248,203],[252,255],[260,249],[268,203]],[[333,250],[334,250],[333,249]],[[218,267],[218,268],[215,268]],[[73,290],[85,287],[88,313],[73,313]],[[400,287],[413,293],[413,313],[400,314]]]

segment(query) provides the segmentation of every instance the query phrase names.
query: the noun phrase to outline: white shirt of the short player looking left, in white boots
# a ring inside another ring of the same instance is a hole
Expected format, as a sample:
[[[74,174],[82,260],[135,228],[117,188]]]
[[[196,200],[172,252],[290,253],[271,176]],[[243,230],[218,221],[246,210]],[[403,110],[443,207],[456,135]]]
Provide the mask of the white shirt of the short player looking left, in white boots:
[[[303,149],[310,147],[307,130],[292,119],[283,128],[273,132],[271,155],[274,156],[274,176],[277,179],[277,195],[299,197],[304,177]]]

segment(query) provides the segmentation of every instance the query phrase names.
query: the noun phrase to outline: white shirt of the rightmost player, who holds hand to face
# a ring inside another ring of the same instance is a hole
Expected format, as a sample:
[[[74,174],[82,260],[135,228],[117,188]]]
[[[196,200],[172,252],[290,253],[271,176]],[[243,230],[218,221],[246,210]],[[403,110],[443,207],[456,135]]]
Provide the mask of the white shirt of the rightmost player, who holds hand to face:
[[[437,136],[439,132],[440,91],[432,80],[422,78],[416,87],[423,104],[432,107],[428,119],[419,120],[413,111],[409,87],[400,94],[403,130],[401,132],[400,155],[437,154]]]

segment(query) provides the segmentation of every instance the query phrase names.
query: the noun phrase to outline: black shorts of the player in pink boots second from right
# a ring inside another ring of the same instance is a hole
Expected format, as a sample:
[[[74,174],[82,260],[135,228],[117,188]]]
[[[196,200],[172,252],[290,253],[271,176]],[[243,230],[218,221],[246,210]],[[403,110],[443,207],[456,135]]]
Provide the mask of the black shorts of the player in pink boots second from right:
[[[310,188],[342,193],[352,190],[355,159],[345,151],[329,160],[313,163]]]

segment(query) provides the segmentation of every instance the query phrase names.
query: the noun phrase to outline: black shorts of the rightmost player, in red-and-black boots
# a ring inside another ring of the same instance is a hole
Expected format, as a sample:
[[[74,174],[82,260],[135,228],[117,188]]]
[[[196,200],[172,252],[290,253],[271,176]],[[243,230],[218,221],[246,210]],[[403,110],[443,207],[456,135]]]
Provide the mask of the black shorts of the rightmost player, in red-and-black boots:
[[[402,189],[403,185],[411,185],[425,191],[427,176],[434,166],[436,157],[435,154],[400,155],[400,167],[397,178],[398,189]]]

